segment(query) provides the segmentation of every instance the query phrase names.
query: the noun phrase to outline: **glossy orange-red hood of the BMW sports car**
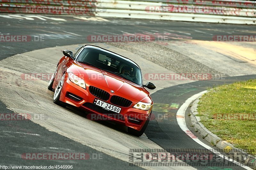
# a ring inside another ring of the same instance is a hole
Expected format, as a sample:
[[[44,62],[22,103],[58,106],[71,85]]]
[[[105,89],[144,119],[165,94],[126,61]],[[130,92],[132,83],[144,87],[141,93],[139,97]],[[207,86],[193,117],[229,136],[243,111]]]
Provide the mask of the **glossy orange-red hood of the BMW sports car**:
[[[77,68],[76,74],[77,73],[78,75],[81,74],[82,76],[80,77],[85,80],[85,83],[87,81],[90,81],[92,83],[107,87],[111,90],[114,90],[115,92],[122,93],[125,96],[129,96],[139,101],[142,101],[143,99],[149,96],[148,91],[146,91],[142,87],[139,87],[138,85],[132,82],[130,84],[129,83],[130,81],[122,77],[119,77],[115,74],[111,74],[107,71],[104,71],[95,67],[91,67],[88,65],[79,63],[79,66],[82,66],[83,69],[81,69],[81,67],[80,68],[76,67]],[[149,99],[145,99],[145,100],[149,102]]]

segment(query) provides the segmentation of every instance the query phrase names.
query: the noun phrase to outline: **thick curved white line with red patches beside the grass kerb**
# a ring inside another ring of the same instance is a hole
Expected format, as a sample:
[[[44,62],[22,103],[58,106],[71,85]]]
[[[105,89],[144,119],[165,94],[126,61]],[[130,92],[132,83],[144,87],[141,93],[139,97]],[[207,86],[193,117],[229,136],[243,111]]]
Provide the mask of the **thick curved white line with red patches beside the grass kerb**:
[[[248,170],[253,170],[251,169],[250,167],[248,166],[245,166],[233,159],[230,159],[228,157],[226,157],[225,155],[222,155],[220,152],[216,151],[215,149],[213,149],[211,146],[208,146],[206,144],[204,144],[202,141],[200,141],[187,127],[186,125],[186,120],[185,120],[185,112],[188,108],[188,105],[193,102],[194,100],[196,100],[196,98],[198,98],[199,96],[203,95],[204,93],[206,93],[207,90],[205,91],[202,91],[198,94],[195,94],[194,96],[188,98],[185,103],[183,103],[181,106],[180,106],[180,109],[177,111],[177,116],[176,116],[176,119],[177,119],[177,122],[180,126],[180,128],[182,129],[182,131],[184,131],[190,138],[192,138],[196,143],[198,143],[199,145],[203,146],[204,148],[208,149],[209,151],[215,153],[216,155],[220,156],[221,158],[224,158],[230,162],[233,162],[234,164],[238,165],[238,166],[241,166],[243,167],[244,169],[248,169]]]

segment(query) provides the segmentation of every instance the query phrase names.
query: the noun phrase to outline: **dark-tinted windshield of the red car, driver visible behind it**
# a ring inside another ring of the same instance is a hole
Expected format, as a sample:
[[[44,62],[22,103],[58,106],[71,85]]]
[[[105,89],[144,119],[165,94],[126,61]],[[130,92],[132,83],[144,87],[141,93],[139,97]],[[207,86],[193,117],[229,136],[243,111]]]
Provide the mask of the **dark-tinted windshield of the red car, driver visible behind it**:
[[[115,55],[96,49],[84,48],[76,61],[89,63],[89,65],[116,74],[140,86],[142,85],[140,68]]]

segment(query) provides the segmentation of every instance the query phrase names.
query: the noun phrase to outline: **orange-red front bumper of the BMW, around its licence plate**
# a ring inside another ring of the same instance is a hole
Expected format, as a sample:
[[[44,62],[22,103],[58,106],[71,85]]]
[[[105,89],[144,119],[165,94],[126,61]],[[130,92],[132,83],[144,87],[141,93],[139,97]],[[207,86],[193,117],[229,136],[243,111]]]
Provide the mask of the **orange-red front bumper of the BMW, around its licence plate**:
[[[60,101],[88,111],[90,114],[87,115],[87,118],[89,119],[112,120],[112,121],[115,121],[116,123],[123,124],[135,130],[138,130],[138,131],[141,130],[141,128],[147,121],[149,114],[151,113],[152,107],[149,110],[140,110],[140,109],[132,108],[137,103],[137,101],[136,102],[132,101],[132,105],[130,107],[118,106],[113,103],[110,103],[110,98],[111,98],[111,94],[110,94],[109,99],[104,102],[121,108],[121,111],[120,113],[108,111],[101,108],[100,106],[93,104],[95,98],[99,100],[101,99],[92,95],[89,92],[89,86],[94,86],[99,89],[104,89],[105,91],[107,91],[106,87],[103,87],[91,82],[86,82],[86,89],[84,89],[76,85],[72,81],[70,81],[67,74],[61,90]],[[110,90],[111,89],[108,89],[108,91]],[[115,92],[115,95],[122,96],[122,94],[119,92]]]

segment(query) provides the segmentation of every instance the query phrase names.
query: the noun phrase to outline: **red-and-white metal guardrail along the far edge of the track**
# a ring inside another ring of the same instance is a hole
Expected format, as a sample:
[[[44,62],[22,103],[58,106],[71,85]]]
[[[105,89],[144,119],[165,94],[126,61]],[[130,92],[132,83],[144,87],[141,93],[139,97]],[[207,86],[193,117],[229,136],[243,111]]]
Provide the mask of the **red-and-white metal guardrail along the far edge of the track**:
[[[256,24],[256,2],[243,0],[0,0],[0,3],[1,13],[91,15],[182,21],[185,18],[186,21],[199,22],[214,22],[214,18],[215,20],[218,18],[216,22],[219,23],[233,23],[235,19],[242,21],[244,18],[246,24]]]

